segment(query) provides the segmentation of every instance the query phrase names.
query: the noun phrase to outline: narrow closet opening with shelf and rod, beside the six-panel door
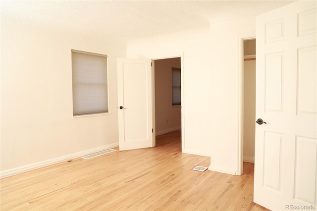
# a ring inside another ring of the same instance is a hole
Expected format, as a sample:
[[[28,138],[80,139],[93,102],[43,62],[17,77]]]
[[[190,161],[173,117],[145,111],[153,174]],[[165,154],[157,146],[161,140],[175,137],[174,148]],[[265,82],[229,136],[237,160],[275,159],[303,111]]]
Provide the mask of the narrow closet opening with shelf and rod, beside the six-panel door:
[[[242,162],[254,163],[256,118],[256,40],[243,40],[242,68]],[[241,168],[243,167],[243,164]],[[241,169],[243,173],[243,169]]]

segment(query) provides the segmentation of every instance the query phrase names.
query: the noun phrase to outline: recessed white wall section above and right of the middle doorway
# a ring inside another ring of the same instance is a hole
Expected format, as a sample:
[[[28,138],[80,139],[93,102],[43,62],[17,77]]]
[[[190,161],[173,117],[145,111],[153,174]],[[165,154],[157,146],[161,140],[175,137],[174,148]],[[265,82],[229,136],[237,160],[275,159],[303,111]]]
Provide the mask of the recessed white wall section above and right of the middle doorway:
[[[127,47],[127,56],[136,58],[184,53],[182,72],[186,96],[182,99],[182,106],[186,122],[182,125],[182,130],[185,129],[185,134],[182,131],[183,152],[205,156],[210,156],[211,143],[211,136],[206,136],[206,132],[210,131],[210,119],[206,113],[211,105],[203,100],[211,89],[211,71],[207,62],[210,57],[206,53],[210,49],[209,29],[135,40]]]

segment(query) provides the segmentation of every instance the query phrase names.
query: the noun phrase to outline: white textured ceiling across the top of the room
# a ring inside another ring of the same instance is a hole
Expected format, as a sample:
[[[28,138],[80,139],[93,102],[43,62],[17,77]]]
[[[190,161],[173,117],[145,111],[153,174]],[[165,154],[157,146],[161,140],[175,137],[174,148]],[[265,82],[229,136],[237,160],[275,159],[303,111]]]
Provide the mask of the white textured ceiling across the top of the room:
[[[289,0],[1,0],[1,20],[52,33],[128,41],[249,17]],[[98,34],[99,36],[96,36]]]

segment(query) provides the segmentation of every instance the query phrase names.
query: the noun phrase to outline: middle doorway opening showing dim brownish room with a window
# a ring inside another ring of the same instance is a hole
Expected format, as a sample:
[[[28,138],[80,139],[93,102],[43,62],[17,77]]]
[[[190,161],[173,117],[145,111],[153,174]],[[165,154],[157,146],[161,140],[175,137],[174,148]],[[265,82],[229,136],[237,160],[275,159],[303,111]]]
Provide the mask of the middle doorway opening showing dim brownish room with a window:
[[[156,136],[181,136],[181,71],[181,57],[154,60]]]

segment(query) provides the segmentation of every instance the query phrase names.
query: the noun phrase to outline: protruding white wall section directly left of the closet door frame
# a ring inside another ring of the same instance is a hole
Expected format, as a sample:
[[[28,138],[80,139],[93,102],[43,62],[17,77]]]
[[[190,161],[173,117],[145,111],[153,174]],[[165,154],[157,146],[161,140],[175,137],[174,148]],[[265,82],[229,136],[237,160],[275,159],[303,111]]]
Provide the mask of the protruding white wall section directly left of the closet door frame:
[[[255,37],[255,17],[211,25],[212,34],[212,102],[214,142],[211,146],[211,170],[236,174],[238,170],[238,139],[240,137],[239,101],[242,60],[242,38]]]

